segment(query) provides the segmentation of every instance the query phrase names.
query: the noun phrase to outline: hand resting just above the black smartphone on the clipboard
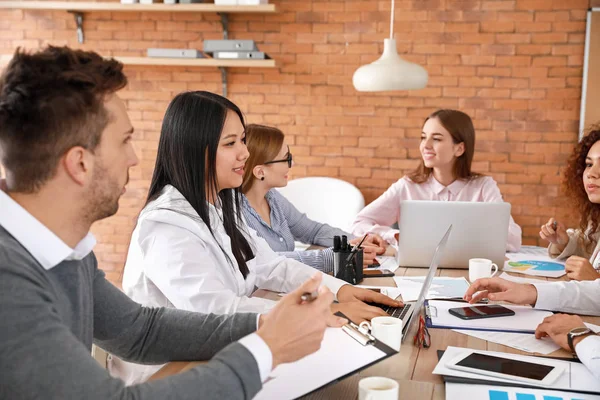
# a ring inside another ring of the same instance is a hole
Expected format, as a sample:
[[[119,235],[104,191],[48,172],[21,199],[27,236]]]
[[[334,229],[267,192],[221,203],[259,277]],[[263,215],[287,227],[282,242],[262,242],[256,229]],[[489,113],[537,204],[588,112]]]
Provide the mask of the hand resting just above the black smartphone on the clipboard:
[[[501,278],[483,278],[473,282],[464,295],[464,299],[471,304],[486,297],[494,301],[534,305],[537,301],[537,290],[530,284],[510,282]]]

